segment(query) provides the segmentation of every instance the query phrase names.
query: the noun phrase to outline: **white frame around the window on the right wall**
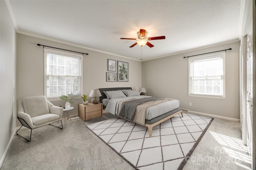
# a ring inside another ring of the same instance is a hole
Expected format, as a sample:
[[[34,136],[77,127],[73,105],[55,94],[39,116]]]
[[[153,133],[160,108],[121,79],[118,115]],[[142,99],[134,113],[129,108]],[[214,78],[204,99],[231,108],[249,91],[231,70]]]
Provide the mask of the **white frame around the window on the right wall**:
[[[211,95],[211,94],[193,94],[191,93],[191,82],[190,82],[190,61],[197,61],[202,59],[210,59],[210,58],[217,58],[218,56],[222,55],[223,60],[223,95]],[[218,99],[225,99],[226,98],[226,68],[225,68],[225,52],[224,53],[215,53],[211,55],[203,55],[199,57],[191,57],[188,58],[188,96],[190,97],[201,97],[201,98],[218,98]]]

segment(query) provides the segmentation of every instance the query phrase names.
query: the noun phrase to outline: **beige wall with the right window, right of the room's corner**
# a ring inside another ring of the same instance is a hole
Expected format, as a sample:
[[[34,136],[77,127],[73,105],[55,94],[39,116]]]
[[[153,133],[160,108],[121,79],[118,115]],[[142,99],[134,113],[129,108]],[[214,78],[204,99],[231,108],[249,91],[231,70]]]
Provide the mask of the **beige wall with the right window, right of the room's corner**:
[[[142,86],[147,95],[180,101],[180,108],[239,119],[240,42],[205,48],[142,63]],[[232,48],[226,52],[226,99],[188,96],[188,59],[183,57]],[[192,102],[192,106],[189,106]]]

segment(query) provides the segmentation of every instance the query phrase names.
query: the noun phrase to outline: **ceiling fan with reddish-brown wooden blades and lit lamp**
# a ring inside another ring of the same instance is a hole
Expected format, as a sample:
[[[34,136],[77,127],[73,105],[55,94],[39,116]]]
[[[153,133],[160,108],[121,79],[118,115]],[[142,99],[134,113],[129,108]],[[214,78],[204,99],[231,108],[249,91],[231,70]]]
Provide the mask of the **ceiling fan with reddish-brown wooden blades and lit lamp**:
[[[159,36],[159,37],[150,37],[147,38],[147,32],[145,29],[140,29],[140,31],[137,33],[138,38],[120,38],[120,39],[134,39],[137,40],[136,43],[134,43],[132,46],[130,47],[134,47],[136,44],[140,45],[141,47],[143,47],[144,45],[148,45],[148,47],[152,48],[154,47],[154,45],[152,45],[151,43],[149,43],[149,40],[156,40],[156,39],[165,39],[165,36]]]

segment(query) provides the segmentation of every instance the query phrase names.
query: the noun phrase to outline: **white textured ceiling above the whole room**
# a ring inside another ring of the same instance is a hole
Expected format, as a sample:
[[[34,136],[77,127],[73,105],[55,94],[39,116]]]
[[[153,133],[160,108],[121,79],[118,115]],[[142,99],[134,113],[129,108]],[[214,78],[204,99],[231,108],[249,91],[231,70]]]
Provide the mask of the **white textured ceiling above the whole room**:
[[[18,33],[44,36],[140,60],[141,47],[129,48],[140,29],[149,41],[142,60],[238,39],[240,0],[6,0]],[[46,45],[46,44],[44,44]],[[86,49],[84,51],[86,53]],[[90,54],[89,54],[90,55]]]

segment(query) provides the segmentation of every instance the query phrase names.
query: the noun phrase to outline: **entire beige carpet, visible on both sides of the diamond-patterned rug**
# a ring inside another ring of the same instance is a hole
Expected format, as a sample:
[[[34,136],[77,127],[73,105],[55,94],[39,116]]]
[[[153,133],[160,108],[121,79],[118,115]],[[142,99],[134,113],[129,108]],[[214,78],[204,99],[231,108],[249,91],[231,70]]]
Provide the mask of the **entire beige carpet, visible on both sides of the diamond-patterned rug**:
[[[66,120],[62,130],[46,125],[32,131],[31,142],[15,135],[0,169],[134,170],[86,127],[113,117],[104,112],[103,117],[87,121]],[[20,132],[29,137],[29,129]],[[248,151],[241,139],[239,122],[214,118],[183,170],[250,169]]]

